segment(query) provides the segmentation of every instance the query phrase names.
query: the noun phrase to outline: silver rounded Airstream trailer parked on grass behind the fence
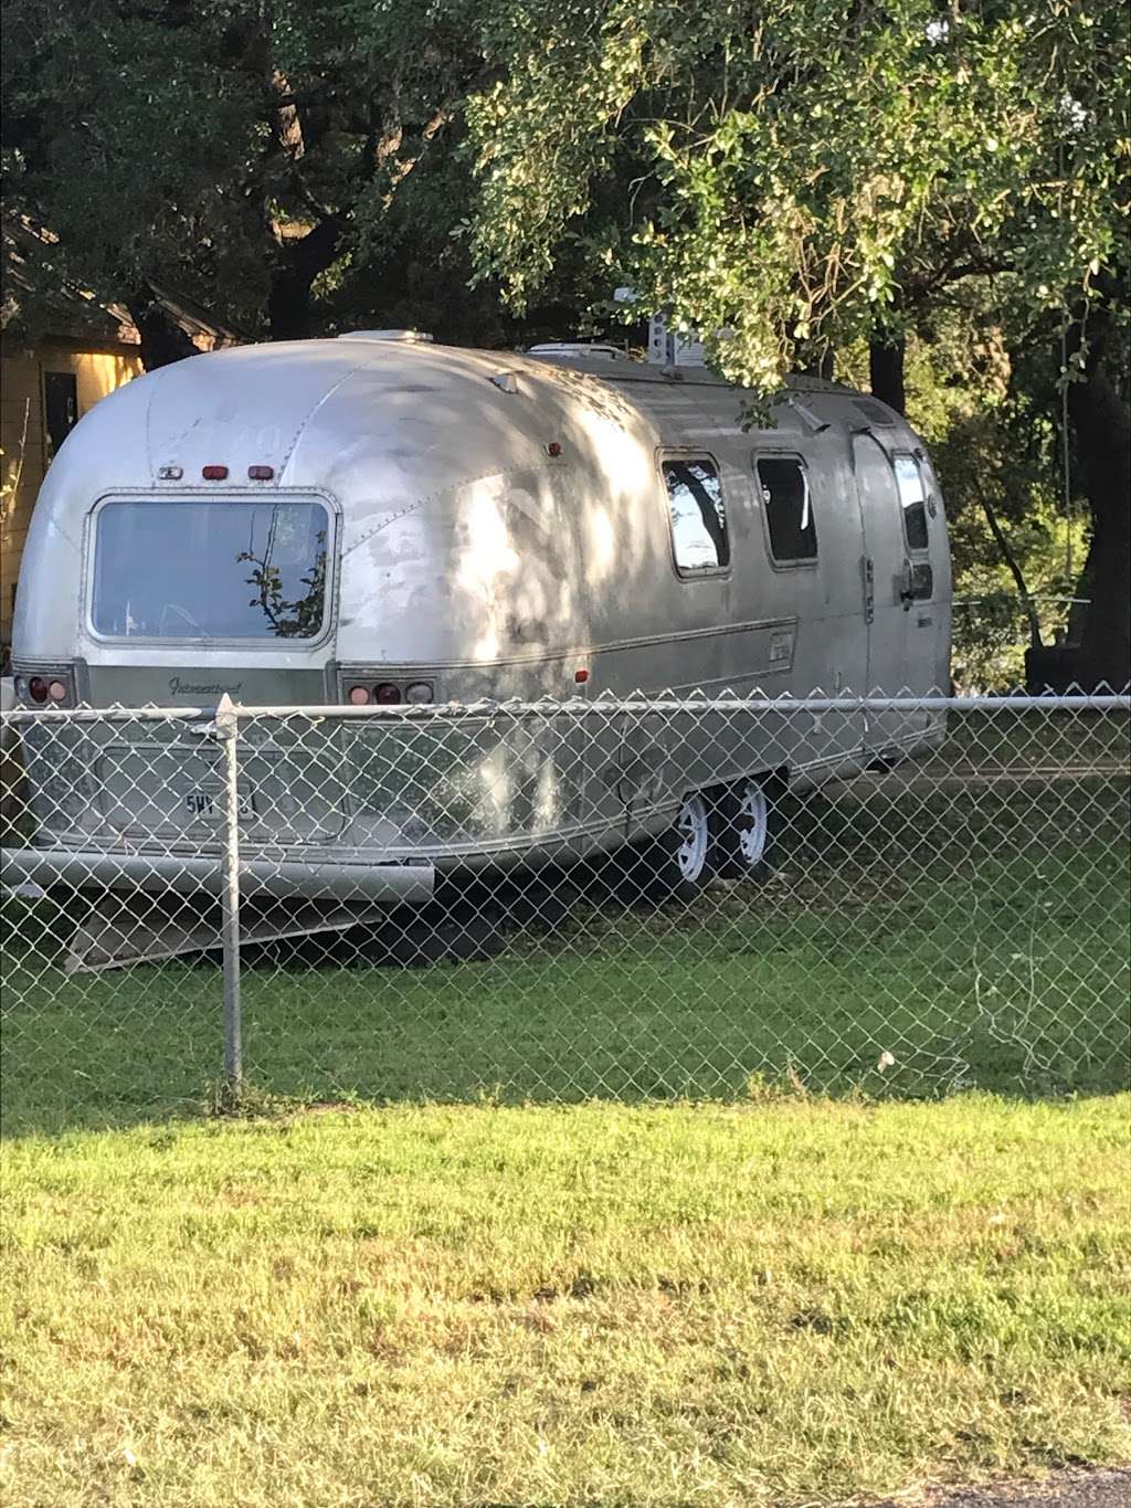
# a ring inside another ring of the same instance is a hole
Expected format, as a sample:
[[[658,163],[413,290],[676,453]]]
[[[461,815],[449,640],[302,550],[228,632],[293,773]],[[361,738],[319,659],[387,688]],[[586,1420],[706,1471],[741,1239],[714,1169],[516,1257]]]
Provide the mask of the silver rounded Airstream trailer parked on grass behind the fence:
[[[20,578],[18,700],[946,688],[947,537],[920,439],[817,379],[789,383],[769,428],[746,427],[748,398],[615,348],[517,356],[389,330],[166,366],[100,403],[51,466]],[[733,861],[752,867],[771,778],[843,775],[939,736],[923,713],[796,718],[765,742],[725,716],[437,727],[250,724],[241,861],[262,894],[372,908],[427,897],[449,869],[668,829],[691,884],[721,805]],[[26,745],[44,799],[6,881],[208,888],[217,816],[195,728],[77,728],[68,799],[47,799],[57,730]]]

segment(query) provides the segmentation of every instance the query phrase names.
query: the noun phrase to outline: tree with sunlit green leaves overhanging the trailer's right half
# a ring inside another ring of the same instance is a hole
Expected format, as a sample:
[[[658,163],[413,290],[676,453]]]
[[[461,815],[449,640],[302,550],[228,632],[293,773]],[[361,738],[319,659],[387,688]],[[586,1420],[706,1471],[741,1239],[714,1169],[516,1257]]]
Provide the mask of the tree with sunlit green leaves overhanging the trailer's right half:
[[[727,375],[864,341],[897,404],[908,332],[973,279],[1013,348],[1063,336],[1104,538],[1078,668],[1128,680],[1122,5],[499,0],[484,48],[474,244],[517,306],[581,241]]]

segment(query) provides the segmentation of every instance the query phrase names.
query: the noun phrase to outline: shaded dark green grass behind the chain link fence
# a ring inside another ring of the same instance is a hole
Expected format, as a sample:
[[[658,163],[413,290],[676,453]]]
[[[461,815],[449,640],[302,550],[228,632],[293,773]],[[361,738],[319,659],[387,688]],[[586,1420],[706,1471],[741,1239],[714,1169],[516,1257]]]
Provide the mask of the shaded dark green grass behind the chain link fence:
[[[1110,1092],[1128,1069],[1128,860],[1095,792],[811,799],[768,882],[694,905],[561,879],[499,917],[249,949],[253,1105]],[[415,929],[415,930],[413,930]],[[442,939],[443,941],[443,939]],[[418,955],[425,967],[391,958]],[[496,956],[481,956],[495,952]],[[3,1129],[208,1113],[219,959],[6,970]],[[259,1098],[265,1096],[265,1098]]]

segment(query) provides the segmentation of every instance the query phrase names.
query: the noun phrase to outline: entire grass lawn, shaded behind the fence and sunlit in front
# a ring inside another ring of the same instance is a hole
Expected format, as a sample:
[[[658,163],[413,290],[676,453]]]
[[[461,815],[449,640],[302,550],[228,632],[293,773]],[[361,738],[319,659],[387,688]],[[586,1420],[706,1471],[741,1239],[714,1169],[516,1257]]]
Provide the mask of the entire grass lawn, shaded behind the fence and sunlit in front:
[[[66,976],[17,912],[5,1505],[820,1508],[1131,1458],[1125,783],[789,817],[763,887],[575,894],[490,961],[249,953],[259,1119],[202,1113],[216,959]]]

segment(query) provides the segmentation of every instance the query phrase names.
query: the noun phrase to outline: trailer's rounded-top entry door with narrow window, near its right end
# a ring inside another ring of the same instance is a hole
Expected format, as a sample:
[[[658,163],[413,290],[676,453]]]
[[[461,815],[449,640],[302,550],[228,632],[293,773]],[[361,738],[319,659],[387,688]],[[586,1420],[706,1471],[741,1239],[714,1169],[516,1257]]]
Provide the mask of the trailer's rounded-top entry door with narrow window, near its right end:
[[[852,437],[857,490],[864,519],[861,590],[869,630],[869,692],[926,697],[938,691],[939,624],[946,603],[936,602],[932,519],[927,484],[911,451],[888,451],[875,434]],[[944,689],[944,688],[942,688]],[[882,712],[866,721],[864,745],[873,754],[897,754],[930,724],[924,712]]]

